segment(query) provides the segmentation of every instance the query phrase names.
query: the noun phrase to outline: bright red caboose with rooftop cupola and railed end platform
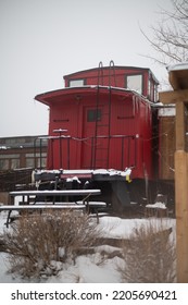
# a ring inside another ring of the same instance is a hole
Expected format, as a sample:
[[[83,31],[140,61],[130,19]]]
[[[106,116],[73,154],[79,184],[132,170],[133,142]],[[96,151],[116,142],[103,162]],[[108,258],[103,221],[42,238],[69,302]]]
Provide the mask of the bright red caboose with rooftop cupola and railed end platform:
[[[48,169],[62,169],[62,179],[89,173],[95,180],[101,169],[102,180],[114,183],[114,171],[124,182],[130,172],[151,179],[151,103],[159,84],[151,71],[100,63],[64,81],[65,88],[36,96],[50,108]]]

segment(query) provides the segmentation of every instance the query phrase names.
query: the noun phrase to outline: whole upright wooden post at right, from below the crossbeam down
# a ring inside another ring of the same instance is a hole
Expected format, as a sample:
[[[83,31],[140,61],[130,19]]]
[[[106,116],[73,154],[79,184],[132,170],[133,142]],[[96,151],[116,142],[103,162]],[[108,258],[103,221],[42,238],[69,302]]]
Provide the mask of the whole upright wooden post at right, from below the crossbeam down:
[[[188,283],[188,154],[185,105],[176,103],[175,210],[177,282]]]

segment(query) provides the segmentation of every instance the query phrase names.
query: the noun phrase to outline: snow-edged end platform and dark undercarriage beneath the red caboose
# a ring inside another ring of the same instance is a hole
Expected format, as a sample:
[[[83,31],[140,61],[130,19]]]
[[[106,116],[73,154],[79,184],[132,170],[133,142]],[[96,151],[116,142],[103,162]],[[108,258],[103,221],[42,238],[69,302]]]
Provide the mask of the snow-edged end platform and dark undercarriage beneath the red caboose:
[[[130,180],[131,169],[115,170],[35,170],[33,182],[38,190],[101,190],[92,200],[106,203],[112,212],[124,212],[153,204],[158,194],[174,205],[174,184],[164,181]],[[71,199],[71,198],[70,198]],[[78,198],[79,199],[79,198]]]

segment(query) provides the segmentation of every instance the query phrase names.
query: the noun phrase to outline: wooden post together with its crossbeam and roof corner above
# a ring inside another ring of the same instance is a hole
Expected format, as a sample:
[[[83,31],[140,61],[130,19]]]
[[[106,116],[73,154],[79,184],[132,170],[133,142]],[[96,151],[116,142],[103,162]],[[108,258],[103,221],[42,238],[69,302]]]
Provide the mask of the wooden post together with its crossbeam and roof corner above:
[[[184,76],[184,77],[183,77]],[[175,211],[177,282],[188,283],[188,154],[186,151],[185,103],[188,102],[188,70],[173,71],[174,91],[160,94],[163,103],[176,105]]]

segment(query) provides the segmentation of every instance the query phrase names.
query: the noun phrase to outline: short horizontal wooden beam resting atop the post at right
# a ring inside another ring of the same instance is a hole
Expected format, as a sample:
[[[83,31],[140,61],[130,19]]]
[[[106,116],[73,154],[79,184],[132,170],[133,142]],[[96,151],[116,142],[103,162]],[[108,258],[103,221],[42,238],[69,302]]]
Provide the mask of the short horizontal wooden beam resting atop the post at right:
[[[167,103],[188,102],[188,89],[159,93],[160,101]]]

